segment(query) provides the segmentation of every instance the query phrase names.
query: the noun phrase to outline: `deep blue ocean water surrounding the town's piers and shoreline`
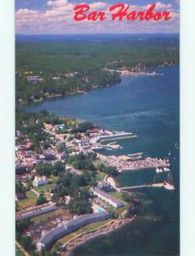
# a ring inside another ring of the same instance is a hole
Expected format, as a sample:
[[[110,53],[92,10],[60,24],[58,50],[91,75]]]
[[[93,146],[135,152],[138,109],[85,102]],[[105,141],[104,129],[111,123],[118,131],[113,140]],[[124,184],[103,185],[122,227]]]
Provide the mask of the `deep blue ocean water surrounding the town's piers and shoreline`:
[[[121,83],[105,89],[25,107],[89,120],[106,129],[135,132],[138,137],[118,141],[123,148],[112,154],[143,152],[144,156],[169,157],[171,163],[175,191],[141,191],[146,202],[150,201],[141,216],[148,213],[153,218],[137,218],[134,224],[77,247],[73,255],[179,254],[179,67],[158,67],[155,71],[163,76],[123,77]],[[118,182],[122,186],[151,183],[153,177],[152,170],[123,172]]]

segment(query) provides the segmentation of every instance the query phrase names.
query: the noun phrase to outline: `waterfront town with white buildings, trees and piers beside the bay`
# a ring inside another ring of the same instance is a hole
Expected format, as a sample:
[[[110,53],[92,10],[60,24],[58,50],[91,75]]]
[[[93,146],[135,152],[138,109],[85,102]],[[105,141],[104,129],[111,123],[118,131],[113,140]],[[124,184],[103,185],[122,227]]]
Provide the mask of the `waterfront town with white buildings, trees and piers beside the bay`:
[[[102,154],[118,150],[117,141],[133,139],[134,133],[46,112],[18,110],[16,116],[16,241],[28,253],[66,255],[132,221],[141,201],[113,178],[125,170],[169,170],[169,160],[144,158],[141,152]],[[167,181],[151,187],[174,188]]]

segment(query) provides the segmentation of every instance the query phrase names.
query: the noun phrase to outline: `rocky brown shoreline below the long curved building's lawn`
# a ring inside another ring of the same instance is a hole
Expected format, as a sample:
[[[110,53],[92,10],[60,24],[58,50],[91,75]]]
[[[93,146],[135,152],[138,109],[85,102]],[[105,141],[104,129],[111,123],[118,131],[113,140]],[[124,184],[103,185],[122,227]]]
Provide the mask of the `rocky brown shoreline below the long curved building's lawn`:
[[[63,247],[66,247],[66,252],[63,253],[62,255],[68,256],[69,253],[71,253],[73,249],[75,249],[76,247],[84,244],[85,242],[90,241],[93,238],[96,238],[98,236],[105,236],[108,233],[114,232],[115,230],[119,230],[120,228],[123,227],[124,224],[129,224],[134,220],[135,220],[135,217],[133,217],[133,218],[124,218],[124,219],[121,219],[121,218],[113,219],[111,221],[111,223],[105,224],[105,225],[103,225],[103,226],[101,226],[101,227],[99,227],[95,230],[90,230],[89,232],[80,234],[79,236],[74,237],[71,241],[67,241],[66,244],[63,245]],[[110,228],[110,230],[109,230],[109,228]],[[101,229],[103,229],[103,230],[101,230]],[[72,245],[72,242],[76,242],[76,244]]]

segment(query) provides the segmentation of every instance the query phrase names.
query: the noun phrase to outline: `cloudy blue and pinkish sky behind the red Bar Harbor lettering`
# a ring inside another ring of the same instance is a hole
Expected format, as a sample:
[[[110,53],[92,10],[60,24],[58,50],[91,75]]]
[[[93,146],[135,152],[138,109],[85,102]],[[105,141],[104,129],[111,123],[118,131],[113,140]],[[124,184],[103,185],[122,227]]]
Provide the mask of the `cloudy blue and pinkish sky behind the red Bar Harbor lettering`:
[[[89,3],[90,10],[106,12],[104,21],[73,19],[73,8]],[[158,11],[168,10],[170,20],[112,21],[108,9],[114,3],[129,4],[130,10],[145,10],[157,3]],[[88,34],[88,33],[177,33],[179,32],[179,0],[15,0],[15,32],[17,34]]]

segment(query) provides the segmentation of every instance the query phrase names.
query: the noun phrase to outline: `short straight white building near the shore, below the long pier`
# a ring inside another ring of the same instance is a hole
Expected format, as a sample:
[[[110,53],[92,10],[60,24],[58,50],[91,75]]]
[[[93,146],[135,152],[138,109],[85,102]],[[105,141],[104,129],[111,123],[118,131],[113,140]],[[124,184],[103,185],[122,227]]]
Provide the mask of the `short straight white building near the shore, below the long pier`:
[[[97,197],[99,197],[103,201],[106,201],[107,203],[112,205],[112,207],[115,207],[115,208],[123,207],[123,201],[119,201],[118,199],[113,198],[111,195],[100,190],[98,187],[93,187],[92,191],[94,195],[97,195]]]

